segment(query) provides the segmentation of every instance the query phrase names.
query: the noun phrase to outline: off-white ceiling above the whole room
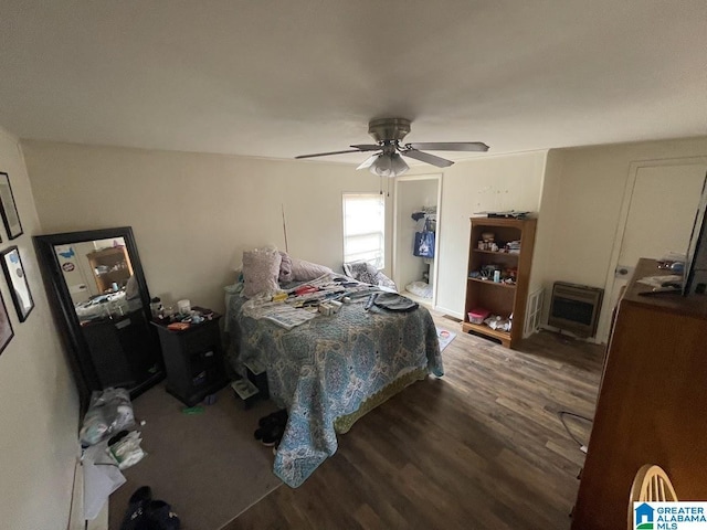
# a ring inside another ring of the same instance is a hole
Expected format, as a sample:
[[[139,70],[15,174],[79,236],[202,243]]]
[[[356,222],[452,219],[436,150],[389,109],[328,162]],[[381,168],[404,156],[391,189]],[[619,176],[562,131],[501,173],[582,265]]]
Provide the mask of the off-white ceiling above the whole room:
[[[0,0],[21,138],[292,158],[391,116],[489,155],[707,135],[707,2]]]

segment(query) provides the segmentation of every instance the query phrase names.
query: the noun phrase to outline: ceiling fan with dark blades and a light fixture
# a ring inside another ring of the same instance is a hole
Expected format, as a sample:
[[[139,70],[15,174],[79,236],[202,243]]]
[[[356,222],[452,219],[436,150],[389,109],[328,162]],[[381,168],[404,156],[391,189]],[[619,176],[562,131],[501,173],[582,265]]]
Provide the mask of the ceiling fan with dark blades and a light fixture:
[[[424,152],[425,150],[440,151],[479,151],[485,152],[488,146],[482,141],[432,141],[401,144],[402,139],[410,132],[410,120],[405,118],[382,118],[373,119],[368,124],[368,134],[373,137],[376,144],[359,144],[350,146],[354,149],[344,151],[316,152],[313,155],[299,155],[295,158],[326,157],[329,155],[342,155],[345,152],[368,152],[378,151],[371,155],[363,163],[356,169],[368,169],[371,173],[380,177],[397,177],[410,169],[403,157],[414,158],[421,162],[431,163],[437,168],[446,168],[454,162],[446,158],[437,157]]]

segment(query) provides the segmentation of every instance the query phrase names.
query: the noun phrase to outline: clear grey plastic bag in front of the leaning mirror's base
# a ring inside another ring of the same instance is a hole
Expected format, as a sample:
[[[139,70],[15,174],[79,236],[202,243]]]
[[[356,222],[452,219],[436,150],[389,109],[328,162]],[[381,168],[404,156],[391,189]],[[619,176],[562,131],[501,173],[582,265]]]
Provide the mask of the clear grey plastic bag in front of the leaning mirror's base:
[[[84,447],[135,425],[130,394],[125,389],[106,389],[91,394],[91,404],[81,427]]]

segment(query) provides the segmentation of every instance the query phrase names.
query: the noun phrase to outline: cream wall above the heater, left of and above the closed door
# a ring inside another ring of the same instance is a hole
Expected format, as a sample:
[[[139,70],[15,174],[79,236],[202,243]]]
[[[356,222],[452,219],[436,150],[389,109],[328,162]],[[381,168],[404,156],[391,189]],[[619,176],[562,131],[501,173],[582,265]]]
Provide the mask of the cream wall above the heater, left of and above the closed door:
[[[548,167],[547,178],[559,190],[551,210],[551,245],[542,267],[546,286],[563,280],[604,288],[631,163],[705,156],[707,137],[550,153],[557,159]],[[542,205],[545,215],[545,202]],[[602,312],[612,310],[606,298]],[[605,342],[608,336],[608,326],[602,326],[598,341]]]

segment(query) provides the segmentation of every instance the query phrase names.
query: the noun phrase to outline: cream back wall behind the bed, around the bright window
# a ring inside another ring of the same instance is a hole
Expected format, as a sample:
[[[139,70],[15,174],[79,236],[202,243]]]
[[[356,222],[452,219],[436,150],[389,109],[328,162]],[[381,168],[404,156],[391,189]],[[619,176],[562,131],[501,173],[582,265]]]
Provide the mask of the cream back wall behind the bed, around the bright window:
[[[283,204],[289,254],[340,272],[341,193],[380,190],[368,171],[325,162],[36,141],[23,150],[45,233],[130,225],[150,294],[215,310],[244,250],[285,248]]]

